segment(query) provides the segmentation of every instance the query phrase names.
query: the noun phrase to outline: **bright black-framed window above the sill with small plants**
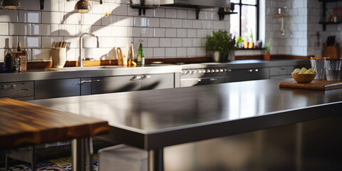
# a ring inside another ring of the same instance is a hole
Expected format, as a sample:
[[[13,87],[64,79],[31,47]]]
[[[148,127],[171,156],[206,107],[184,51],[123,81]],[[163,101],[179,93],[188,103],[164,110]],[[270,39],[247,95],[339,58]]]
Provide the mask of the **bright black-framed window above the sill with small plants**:
[[[231,0],[234,3],[234,12],[230,15],[230,33],[241,36],[244,41],[259,40],[259,0]]]

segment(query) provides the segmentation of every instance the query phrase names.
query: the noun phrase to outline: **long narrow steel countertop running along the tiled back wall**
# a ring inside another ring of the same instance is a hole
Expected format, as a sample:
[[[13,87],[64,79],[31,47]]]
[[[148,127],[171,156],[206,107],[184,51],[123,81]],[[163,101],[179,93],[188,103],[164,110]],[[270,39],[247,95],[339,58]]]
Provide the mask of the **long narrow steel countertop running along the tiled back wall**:
[[[263,68],[272,66],[306,66],[310,65],[309,60],[301,59],[274,59],[264,60],[238,60],[230,63],[195,63],[185,65],[153,64],[137,67],[124,66],[86,66],[66,67],[66,68],[45,68],[28,70],[26,73],[0,73],[0,82],[12,81],[36,81],[47,79],[66,78],[89,78],[99,76],[125,76],[138,74],[158,74],[158,73],[181,73],[182,68],[211,68],[229,67],[231,69],[243,68]]]

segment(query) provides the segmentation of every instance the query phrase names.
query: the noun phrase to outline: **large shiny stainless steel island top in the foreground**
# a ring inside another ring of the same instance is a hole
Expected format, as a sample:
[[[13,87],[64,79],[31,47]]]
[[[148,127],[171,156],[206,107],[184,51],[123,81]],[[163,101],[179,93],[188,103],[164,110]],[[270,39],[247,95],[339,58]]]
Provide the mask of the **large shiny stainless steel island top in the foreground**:
[[[108,120],[108,138],[146,150],[342,114],[342,89],[279,88],[281,81],[289,79],[29,102]]]

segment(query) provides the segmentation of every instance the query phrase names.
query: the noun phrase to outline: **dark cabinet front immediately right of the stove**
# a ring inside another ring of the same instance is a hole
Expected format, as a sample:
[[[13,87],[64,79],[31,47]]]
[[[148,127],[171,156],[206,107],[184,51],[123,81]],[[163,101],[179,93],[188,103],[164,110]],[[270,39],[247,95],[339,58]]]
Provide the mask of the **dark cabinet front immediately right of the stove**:
[[[252,81],[269,79],[269,68],[237,69],[229,72],[229,81]]]

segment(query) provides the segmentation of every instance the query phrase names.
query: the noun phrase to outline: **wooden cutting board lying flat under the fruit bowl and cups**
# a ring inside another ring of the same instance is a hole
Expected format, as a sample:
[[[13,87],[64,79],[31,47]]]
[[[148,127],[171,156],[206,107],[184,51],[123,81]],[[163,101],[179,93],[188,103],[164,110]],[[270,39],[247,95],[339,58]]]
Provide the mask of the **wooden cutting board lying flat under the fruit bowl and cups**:
[[[334,90],[342,88],[342,81],[314,80],[311,83],[297,83],[296,81],[283,81],[279,83],[281,88],[300,88],[306,90]]]

